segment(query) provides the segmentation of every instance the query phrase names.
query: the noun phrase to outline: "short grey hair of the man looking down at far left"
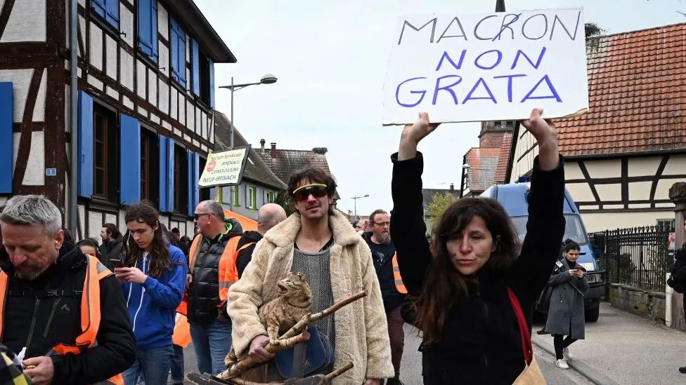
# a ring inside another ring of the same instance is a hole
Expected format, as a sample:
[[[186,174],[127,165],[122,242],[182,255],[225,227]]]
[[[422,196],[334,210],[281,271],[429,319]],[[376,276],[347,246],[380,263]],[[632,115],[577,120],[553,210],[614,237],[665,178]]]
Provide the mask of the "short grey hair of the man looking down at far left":
[[[0,221],[22,226],[40,224],[45,228],[45,233],[51,235],[62,229],[60,209],[42,195],[13,196],[5,203]]]

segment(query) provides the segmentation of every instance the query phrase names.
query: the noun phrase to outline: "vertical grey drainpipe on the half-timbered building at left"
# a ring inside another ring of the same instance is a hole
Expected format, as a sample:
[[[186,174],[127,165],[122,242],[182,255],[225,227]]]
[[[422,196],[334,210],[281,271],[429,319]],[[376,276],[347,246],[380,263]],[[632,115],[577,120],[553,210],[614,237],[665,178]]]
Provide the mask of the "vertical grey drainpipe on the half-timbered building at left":
[[[74,234],[75,238],[78,238],[79,233],[77,232],[77,220],[79,217],[79,209],[77,206],[77,192],[79,189],[79,74],[78,74],[78,41],[77,41],[77,28],[79,27],[79,15],[77,13],[78,0],[69,1],[69,72],[70,72],[70,85],[69,85],[69,125],[70,125],[70,135],[69,135],[69,149],[70,149],[70,174],[69,174],[69,195],[68,199],[68,210],[69,210],[69,231]]]

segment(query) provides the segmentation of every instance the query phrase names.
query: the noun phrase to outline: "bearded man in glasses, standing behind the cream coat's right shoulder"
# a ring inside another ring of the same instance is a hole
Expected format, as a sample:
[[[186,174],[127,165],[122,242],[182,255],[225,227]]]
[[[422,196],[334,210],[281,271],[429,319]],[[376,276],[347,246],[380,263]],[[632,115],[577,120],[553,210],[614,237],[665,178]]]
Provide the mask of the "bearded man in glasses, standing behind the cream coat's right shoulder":
[[[377,209],[369,215],[368,229],[363,234],[372,251],[374,268],[381,287],[384,310],[388,321],[388,336],[391,341],[391,362],[395,376],[388,380],[387,385],[402,385],[400,381],[400,361],[403,358],[405,332],[403,332],[403,318],[401,305],[405,299],[406,290],[400,279],[399,269],[395,260],[396,248],[391,242],[391,217],[388,212]]]

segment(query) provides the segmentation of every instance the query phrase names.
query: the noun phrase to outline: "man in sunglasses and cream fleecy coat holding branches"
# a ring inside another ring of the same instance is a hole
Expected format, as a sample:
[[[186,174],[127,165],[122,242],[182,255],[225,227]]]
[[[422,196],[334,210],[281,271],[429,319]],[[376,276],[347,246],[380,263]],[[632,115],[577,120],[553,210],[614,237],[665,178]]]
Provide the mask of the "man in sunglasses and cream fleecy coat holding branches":
[[[259,306],[278,296],[278,281],[289,271],[304,273],[313,293],[312,312],[364,290],[367,297],[352,302],[316,326],[328,339],[334,362],[320,372],[352,362],[354,367],[332,382],[378,385],[393,377],[386,314],[369,246],[350,222],[332,208],[336,183],[318,168],[295,173],[288,182],[295,213],[268,231],[252,262],[228,293],[233,320],[233,348],[240,358],[273,357],[264,346],[269,338],[260,323]],[[312,375],[316,373],[304,373]],[[268,364],[266,381],[281,379]],[[283,379],[282,379],[283,381]]]

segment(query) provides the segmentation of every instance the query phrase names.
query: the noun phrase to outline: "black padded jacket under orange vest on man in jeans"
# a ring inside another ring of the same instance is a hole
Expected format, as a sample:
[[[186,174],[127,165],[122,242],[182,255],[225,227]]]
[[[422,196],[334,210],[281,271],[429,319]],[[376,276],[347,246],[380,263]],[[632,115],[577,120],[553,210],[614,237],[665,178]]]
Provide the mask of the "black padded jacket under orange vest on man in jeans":
[[[225,236],[219,234],[214,239],[201,239],[200,253],[193,261],[193,280],[188,288],[188,323],[207,324],[216,320],[221,311],[228,320],[226,306],[219,299],[219,259],[228,240],[241,236],[242,228],[235,219],[228,219],[231,231]],[[202,236],[202,235],[198,235]]]

